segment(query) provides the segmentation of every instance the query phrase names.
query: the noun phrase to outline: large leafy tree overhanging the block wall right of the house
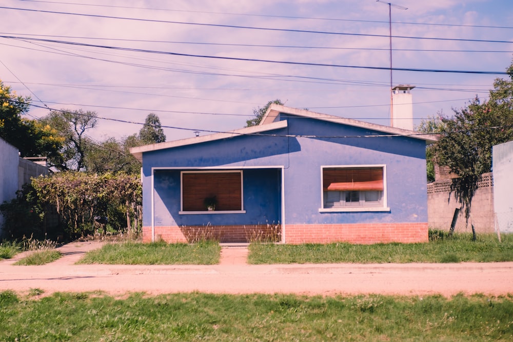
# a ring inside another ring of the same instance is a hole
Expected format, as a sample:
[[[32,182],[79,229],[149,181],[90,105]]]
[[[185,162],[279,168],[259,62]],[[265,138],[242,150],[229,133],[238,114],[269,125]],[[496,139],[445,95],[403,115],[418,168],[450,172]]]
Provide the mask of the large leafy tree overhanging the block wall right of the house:
[[[435,159],[459,176],[453,187],[467,222],[479,177],[491,171],[492,146],[513,140],[513,64],[507,72],[511,79],[496,79],[488,101],[476,97],[467,107],[453,109],[453,117],[441,118]]]

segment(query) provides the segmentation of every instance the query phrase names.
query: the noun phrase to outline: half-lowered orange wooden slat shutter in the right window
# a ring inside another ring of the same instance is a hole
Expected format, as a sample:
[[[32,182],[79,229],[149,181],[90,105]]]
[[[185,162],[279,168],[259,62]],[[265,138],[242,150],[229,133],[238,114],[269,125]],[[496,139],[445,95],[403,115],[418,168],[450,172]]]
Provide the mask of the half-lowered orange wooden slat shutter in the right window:
[[[383,191],[383,169],[324,169],[323,186],[325,191]]]

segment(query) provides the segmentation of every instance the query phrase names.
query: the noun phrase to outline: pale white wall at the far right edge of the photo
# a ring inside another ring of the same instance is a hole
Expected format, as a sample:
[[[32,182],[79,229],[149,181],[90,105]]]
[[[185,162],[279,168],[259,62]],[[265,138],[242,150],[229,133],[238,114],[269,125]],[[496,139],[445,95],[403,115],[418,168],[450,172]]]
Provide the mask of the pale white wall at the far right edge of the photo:
[[[501,232],[513,233],[513,141],[494,146],[492,168],[496,224]]]

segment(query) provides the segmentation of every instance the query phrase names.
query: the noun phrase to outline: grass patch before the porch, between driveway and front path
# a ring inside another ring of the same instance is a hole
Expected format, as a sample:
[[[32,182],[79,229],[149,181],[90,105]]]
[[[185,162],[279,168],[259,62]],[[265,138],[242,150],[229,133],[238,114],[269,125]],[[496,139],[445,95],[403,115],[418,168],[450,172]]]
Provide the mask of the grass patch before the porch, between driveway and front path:
[[[221,246],[217,242],[196,244],[112,243],[88,252],[77,264],[122,265],[215,265]]]

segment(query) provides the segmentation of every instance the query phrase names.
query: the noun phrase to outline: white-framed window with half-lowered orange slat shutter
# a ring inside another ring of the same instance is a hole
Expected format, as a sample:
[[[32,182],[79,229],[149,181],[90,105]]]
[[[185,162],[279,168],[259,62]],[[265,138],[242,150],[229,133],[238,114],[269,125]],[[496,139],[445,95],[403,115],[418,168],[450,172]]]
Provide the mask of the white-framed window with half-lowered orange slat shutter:
[[[325,211],[388,210],[385,196],[385,167],[323,167]]]

